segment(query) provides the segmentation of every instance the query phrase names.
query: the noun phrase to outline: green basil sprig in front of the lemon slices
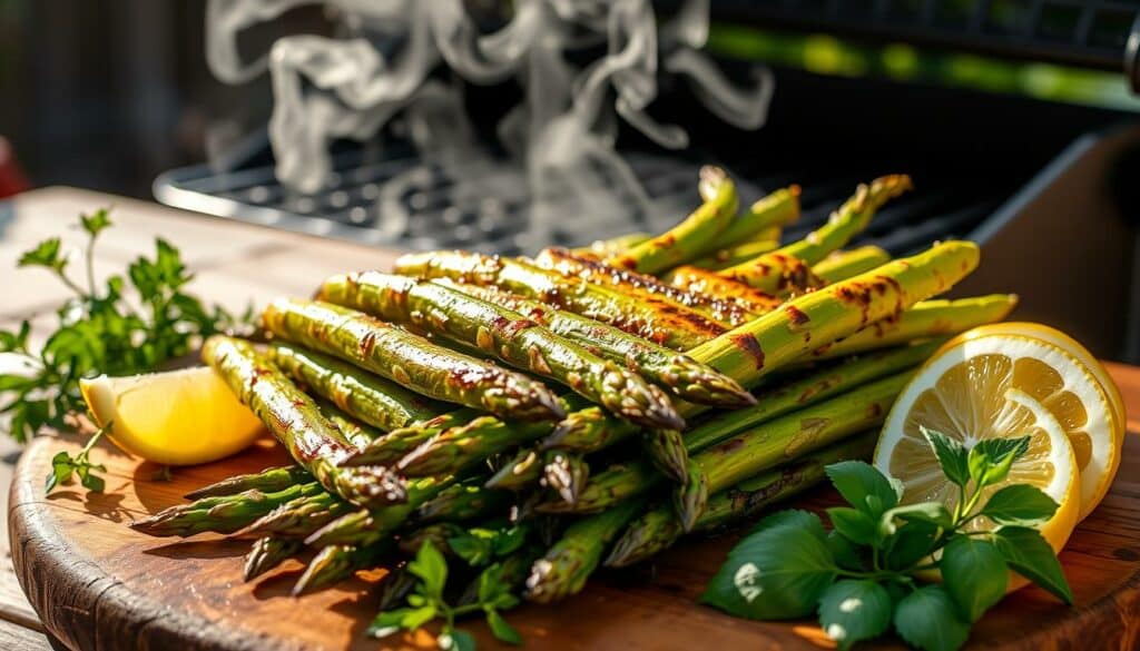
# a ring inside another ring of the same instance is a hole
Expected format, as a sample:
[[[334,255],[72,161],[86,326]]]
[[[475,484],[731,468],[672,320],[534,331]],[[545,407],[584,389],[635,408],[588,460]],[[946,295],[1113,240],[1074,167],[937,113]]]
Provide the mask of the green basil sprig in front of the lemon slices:
[[[848,506],[828,510],[832,530],[805,511],[765,518],[736,545],[701,601],[749,619],[792,619],[817,612],[840,649],[898,635],[927,651],[960,648],[970,626],[1005,595],[1009,570],[1073,602],[1052,547],[1035,527],[1057,503],[1027,485],[1005,486],[1029,438],[990,439],[969,450],[922,429],[946,479],[959,488],[952,508],[938,502],[899,504],[902,485],[864,462],[826,467]],[[987,519],[991,530],[971,527]],[[942,571],[942,584],[919,573]]]

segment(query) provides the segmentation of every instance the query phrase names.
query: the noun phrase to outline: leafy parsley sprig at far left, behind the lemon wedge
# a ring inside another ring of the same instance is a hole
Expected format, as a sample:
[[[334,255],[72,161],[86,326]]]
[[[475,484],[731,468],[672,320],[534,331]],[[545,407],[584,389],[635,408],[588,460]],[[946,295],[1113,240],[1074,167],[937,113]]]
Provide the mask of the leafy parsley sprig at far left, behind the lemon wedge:
[[[48,270],[73,294],[56,310],[58,325],[39,350],[28,341],[27,320],[14,331],[0,329],[0,353],[22,358],[18,372],[0,374],[0,414],[10,420],[9,431],[21,442],[44,428],[66,426],[71,414],[83,410],[80,379],[155,371],[189,353],[202,337],[244,327],[250,320],[250,314],[235,318],[220,307],[207,309],[187,294],[186,284],[194,276],[178,249],[161,238],[155,242],[153,258],[139,257],[125,275],[113,275],[100,286],[95,246],[112,226],[111,215],[106,209],[81,214],[79,226],[87,234],[81,262],[73,260],[58,237],[39,243],[17,262],[18,267]],[[72,272],[73,263],[82,265],[76,274]],[[76,472],[88,469],[89,477],[98,470],[71,462]],[[84,481],[89,488],[98,485]],[[55,482],[49,482],[49,490]]]

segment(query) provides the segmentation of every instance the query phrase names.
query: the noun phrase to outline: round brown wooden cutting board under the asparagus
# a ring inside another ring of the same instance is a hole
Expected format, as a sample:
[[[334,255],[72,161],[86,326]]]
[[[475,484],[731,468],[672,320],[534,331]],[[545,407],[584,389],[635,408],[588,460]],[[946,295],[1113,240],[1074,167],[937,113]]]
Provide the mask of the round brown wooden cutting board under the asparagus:
[[[1076,595],[1065,607],[1036,588],[991,611],[970,646],[990,649],[1134,649],[1140,644],[1140,368],[1110,366],[1132,420],[1124,461],[1112,491],[1061,554]],[[64,487],[43,495],[50,459],[75,451],[67,438],[41,439],[17,469],[8,513],[11,550],[24,591],[47,628],[73,649],[414,649],[433,648],[420,634],[383,643],[364,630],[376,611],[369,591],[382,571],[335,589],[287,596],[301,565],[292,563],[252,584],[242,581],[246,543],[215,536],[150,538],[131,519],[181,502],[181,495],[239,472],[285,461],[263,441],[223,462],[179,469],[170,481],[156,467],[103,447],[107,490]],[[833,499],[819,489],[800,499]],[[652,567],[602,572],[580,595],[555,607],[523,605],[508,619],[529,649],[817,649],[831,646],[811,621],[752,622],[697,604],[697,596],[735,535],[690,540]],[[481,649],[496,642],[470,622]],[[898,648],[897,642],[881,648]]]

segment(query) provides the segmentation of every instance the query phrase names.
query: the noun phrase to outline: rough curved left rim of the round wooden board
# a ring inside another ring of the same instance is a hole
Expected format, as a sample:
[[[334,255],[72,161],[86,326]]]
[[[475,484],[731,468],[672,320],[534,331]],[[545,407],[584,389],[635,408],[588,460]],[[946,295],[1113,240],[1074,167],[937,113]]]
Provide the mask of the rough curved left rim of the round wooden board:
[[[38,473],[30,466],[40,455],[49,454],[54,442],[50,437],[32,441],[16,465],[8,497],[8,540],[19,585],[57,640],[75,650],[282,649],[280,640],[217,626],[132,592],[76,551],[44,518],[36,516],[35,507],[44,504],[43,487],[32,481]]]

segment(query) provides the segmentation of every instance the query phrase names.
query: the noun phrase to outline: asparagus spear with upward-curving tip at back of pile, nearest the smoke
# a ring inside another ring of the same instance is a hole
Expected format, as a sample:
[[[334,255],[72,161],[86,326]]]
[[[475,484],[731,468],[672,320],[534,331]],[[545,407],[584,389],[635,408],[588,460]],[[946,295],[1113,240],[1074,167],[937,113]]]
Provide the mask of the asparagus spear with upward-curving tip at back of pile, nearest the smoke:
[[[708,201],[668,233],[611,258],[609,262],[641,274],[658,274],[699,257],[728,228],[736,214],[736,186],[720,168],[701,168],[700,185]]]

